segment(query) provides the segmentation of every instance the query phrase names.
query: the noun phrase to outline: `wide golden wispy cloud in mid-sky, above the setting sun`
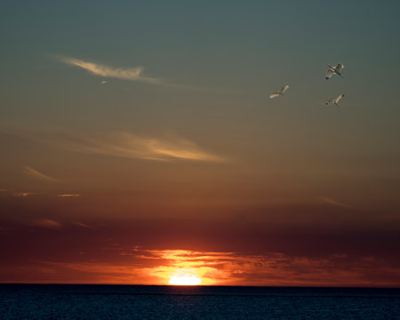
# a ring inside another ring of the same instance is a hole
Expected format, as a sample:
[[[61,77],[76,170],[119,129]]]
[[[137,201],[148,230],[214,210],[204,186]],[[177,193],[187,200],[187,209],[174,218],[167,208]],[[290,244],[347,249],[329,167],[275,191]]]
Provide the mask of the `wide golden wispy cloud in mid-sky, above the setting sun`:
[[[45,141],[56,148],[104,156],[139,158],[154,161],[173,159],[223,163],[226,159],[198,147],[196,143],[170,136],[170,139],[140,137],[129,132],[116,132],[101,137],[63,136]]]

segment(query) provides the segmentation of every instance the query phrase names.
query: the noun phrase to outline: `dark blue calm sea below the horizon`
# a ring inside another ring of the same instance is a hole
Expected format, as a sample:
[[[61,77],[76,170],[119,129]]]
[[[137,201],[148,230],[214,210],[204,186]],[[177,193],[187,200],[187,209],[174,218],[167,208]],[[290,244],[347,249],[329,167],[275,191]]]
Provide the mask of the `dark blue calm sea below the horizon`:
[[[400,319],[400,289],[0,284],[1,319]]]

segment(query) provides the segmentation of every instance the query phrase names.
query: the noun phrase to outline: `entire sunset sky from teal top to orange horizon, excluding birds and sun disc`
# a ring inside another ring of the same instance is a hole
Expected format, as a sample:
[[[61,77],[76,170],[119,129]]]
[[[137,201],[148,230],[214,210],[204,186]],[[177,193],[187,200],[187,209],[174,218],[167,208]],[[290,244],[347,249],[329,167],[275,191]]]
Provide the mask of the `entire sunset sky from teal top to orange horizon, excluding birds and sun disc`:
[[[400,286],[399,10],[3,1],[0,282]]]

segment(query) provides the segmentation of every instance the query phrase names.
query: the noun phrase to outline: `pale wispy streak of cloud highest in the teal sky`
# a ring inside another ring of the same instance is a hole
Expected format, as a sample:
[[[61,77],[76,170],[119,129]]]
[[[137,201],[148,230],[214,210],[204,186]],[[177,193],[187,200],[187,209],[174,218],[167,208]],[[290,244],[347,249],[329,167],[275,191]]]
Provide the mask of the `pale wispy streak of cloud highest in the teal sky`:
[[[94,62],[78,60],[74,58],[68,57],[60,57],[60,61],[67,63],[72,66],[76,66],[78,68],[83,68],[86,71],[89,71],[93,75],[103,76],[103,77],[112,77],[122,80],[128,81],[140,81],[148,84],[164,84],[161,79],[143,76],[143,68],[113,68],[105,65],[101,65]],[[104,82],[104,81],[103,81]],[[101,82],[101,84],[103,84]]]

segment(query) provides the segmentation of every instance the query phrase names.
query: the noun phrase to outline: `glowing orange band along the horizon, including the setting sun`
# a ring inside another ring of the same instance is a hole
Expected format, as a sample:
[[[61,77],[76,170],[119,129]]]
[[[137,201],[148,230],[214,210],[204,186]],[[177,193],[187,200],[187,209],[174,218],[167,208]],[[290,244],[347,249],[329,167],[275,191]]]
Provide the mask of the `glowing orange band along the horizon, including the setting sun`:
[[[52,228],[53,232],[54,230],[60,228]],[[34,261],[22,279],[15,277],[15,280],[8,279],[7,282],[393,287],[393,276],[398,274],[398,269],[382,267],[380,261],[372,257],[358,260],[358,266],[352,269],[335,270],[335,263],[346,262],[348,257],[346,254],[334,254],[323,259],[308,259],[292,257],[282,252],[243,254],[149,250],[140,247],[132,247],[131,250],[115,248],[115,250],[125,259],[123,263]],[[333,267],[327,269],[327,266],[331,265]],[[364,269],[371,265],[381,273],[390,273],[391,276],[380,282],[366,279]],[[12,275],[13,271],[9,269],[8,272]]]

